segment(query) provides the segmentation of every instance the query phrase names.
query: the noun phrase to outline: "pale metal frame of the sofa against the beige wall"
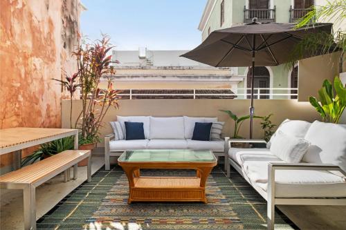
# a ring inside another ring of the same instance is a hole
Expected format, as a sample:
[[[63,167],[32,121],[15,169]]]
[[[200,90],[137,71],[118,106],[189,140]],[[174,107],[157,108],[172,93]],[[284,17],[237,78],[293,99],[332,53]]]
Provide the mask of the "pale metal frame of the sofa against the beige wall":
[[[121,151],[111,151],[109,149],[109,142],[114,138],[114,133],[108,134],[104,136],[104,162],[105,162],[105,169],[106,170],[110,170],[111,166],[110,166],[110,157],[120,157],[120,155],[122,153],[124,153],[127,149],[121,150]],[[224,137],[225,140],[225,151],[221,152],[221,151],[212,151],[212,153],[214,153],[215,157],[219,158],[219,157],[225,157],[225,171],[227,170],[227,166],[229,166],[228,164],[228,140],[230,139],[230,137]]]

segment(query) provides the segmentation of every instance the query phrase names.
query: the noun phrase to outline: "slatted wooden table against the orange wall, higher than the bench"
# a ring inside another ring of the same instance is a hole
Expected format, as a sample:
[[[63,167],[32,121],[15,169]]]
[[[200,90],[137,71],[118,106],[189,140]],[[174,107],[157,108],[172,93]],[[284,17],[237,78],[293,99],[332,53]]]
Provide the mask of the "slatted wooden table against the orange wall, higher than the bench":
[[[0,130],[0,155],[15,152],[15,169],[21,166],[21,150],[63,137],[75,136],[78,149],[78,129],[66,128],[4,128]]]

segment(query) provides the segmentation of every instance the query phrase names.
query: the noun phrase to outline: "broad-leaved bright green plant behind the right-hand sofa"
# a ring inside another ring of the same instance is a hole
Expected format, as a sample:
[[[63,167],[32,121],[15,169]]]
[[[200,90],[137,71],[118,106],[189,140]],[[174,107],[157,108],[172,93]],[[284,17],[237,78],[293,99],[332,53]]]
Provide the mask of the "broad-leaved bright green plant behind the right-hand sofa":
[[[322,121],[337,124],[346,108],[346,88],[340,78],[334,78],[334,87],[329,80],[325,80],[318,95],[320,101],[309,97],[310,104],[320,113]]]

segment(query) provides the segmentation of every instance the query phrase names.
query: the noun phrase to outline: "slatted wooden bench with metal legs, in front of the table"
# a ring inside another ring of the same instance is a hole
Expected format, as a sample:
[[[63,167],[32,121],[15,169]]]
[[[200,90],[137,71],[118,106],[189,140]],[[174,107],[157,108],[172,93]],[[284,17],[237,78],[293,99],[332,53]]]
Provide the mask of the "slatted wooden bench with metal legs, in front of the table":
[[[70,180],[70,168],[73,166],[73,179],[77,179],[78,162],[88,158],[88,182],[91,181],[91,151],[68,150],[48,157],[17,171],[0,176],[0,189],[22,189],[24,195],[24,229],[36,229],[37,186],[65,172],[65,181]]]

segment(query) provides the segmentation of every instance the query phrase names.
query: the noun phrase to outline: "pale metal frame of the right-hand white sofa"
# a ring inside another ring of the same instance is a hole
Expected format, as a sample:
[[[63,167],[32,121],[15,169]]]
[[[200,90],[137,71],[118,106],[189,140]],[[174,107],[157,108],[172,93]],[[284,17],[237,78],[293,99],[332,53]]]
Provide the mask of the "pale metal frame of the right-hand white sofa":
[[[228,140],[228,149],[234,142],[244,143],[266,143],[265,140]],[[226,150],[225,150],[226,151]],[[311,163],[268,163],[268,193],[260,189],[260,187],[252,184],[242,172],[242,167],[232,158],[228,157],[227,175],[230,176],[230,165],[233,166],[242,177],[253,186],[253,189],[260,193],[262,198],[267,202],[267,229],[273,230],[275,224],[275,205],[346,205],[346,198],[277,198],[275,195],[275,171],[280,170],[316,170],[316,171],[339,171],[346,176],[345,171],[334,164],[311,164]]]

